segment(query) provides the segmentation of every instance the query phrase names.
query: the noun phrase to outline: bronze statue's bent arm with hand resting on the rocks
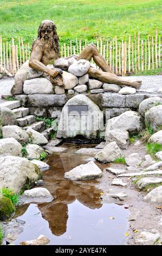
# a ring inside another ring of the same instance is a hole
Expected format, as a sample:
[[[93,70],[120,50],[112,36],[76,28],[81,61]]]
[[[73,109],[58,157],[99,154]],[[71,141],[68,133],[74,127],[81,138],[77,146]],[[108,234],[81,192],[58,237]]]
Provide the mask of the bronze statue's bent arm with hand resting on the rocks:
[[[43,56],[43,50],[40,47],[36,46],[33,49],[29,59],[30,68],[36,69],[38,71],[46,72],[51,77],[57,76],[59,74],[58,71],[47,68],[47,66],[41,62],[42,56]]]

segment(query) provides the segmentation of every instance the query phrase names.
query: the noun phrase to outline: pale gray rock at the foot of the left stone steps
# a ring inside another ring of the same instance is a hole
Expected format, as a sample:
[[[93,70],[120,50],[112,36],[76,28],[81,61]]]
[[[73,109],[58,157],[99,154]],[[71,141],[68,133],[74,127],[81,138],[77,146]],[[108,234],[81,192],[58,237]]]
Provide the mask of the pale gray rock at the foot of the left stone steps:
[[[46,145],[48,143],[47,139],[40,132],[28,128],[27,133],[33,144]]]

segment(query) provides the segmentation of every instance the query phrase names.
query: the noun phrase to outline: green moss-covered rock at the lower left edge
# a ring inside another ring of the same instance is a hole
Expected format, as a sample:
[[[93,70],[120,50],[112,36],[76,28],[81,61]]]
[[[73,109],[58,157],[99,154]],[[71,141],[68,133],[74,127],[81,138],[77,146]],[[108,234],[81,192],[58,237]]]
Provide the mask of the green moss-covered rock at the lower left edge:
[[[7,197],[0,197],[0,220],[4,221],[9,218],[12,212],[15,211],[15,206],[12,204],[11,200]]]

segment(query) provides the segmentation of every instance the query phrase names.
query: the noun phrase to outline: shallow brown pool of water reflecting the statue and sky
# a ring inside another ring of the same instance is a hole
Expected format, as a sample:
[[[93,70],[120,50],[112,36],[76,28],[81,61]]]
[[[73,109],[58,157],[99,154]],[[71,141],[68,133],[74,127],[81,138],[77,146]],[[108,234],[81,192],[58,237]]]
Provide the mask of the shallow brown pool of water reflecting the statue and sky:
[[[99,180],[69,181],[64,172],[87,163],[92,156],[75,154],[81,147],[94,145],[64,144],[68,151],[48,157],[50,169],[43,172],[43,180],[55,198],[51,203],[26,204],[18,211],[18,219],[25,221],[23,231],[13,242],[45,235],[50,245],[122,245],[126,241],[128,209],[125,205],[102,204]],[[103,165],[98,163],[103,169]],[[105,168],[105,167],[104,167]]]

